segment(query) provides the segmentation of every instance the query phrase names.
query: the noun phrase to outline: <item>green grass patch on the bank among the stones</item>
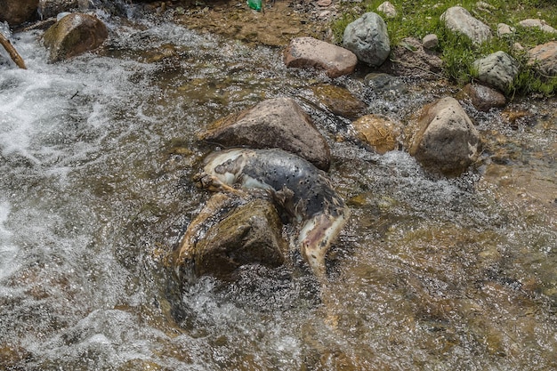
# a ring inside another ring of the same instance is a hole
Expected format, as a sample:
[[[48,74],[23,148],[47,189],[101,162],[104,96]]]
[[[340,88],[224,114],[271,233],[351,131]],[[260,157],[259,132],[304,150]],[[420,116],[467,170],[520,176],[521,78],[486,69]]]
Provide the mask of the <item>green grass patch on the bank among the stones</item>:
[[[382,3],[383,0],[364,0],[359,4],[344,3],[343,15],[332,24],[335,41],[342,44],[344,28],[364,12],[377,12],[377,7]],[[537,74],[528,64],[527,53],[514,46],[518,43],[528,50],[537,44],[557,39],[555,34],[518,25],[520,20],[533,18],[543,19],[553,28],[557,28],[557,6],[554,0],[484,0],[484,3],[489,4],[486,9],[480,9],[477,0],[391,0],[391,3],[398,12],[396,17],[387,18],[382,12],[377,12],[387,24],[391,44],[400,44],[400,41],[408,36],[422,39],[428,34],[436,34],[440,39],[439,52],[445,64],[445,75],[456,84],[464,85],[473,81],[474,60],[492,52],[503,51],[513,56],[520,64],[519,76],[516,77],[513,86],[505,92],[507,96],[529,93],[553,95],[557,92],[557,77],[543,77]],[[494,37],[484,44],[474,45],[466,36],[456,35],[445,28],[440,21],[440,15],[456,5],[463,6],[473,17],[487,24]],[[511,36],[499,38],[496,36],[498,23],[505,23],[516,28],[516,31]]]

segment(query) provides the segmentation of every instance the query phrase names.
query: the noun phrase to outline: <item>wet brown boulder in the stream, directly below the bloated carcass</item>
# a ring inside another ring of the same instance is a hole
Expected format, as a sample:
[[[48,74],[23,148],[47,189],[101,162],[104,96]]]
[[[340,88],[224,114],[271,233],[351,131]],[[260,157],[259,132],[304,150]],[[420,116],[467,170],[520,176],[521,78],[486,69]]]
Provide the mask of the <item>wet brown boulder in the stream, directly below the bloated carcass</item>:
[[[176,262],[193,264],[198,276],[234,279],[246,264],[280,266],[287,248],[269,200],[217,193],[190,223]]]

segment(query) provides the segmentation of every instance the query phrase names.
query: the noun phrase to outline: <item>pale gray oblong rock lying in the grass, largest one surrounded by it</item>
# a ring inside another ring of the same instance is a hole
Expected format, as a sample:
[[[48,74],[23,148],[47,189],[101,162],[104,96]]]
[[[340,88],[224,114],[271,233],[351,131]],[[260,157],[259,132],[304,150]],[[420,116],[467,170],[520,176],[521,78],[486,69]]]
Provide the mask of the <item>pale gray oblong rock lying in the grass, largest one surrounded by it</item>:
[[[440,19],[452,31],[470,37],[474,44],[481,44],[491,37],[491,29],[461,6],[448,8]]]

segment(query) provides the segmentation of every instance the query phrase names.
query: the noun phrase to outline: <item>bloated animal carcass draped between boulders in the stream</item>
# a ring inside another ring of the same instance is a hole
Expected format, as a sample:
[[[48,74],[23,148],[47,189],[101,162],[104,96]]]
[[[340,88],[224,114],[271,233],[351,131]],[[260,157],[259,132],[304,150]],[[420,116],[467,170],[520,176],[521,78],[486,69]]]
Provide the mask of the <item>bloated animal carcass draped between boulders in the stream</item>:
[[[298,246],[311,269],[325,275],[325,256],[349,209],[325,173],[281,149],[226,149],[206,158],[199,185],[208,190],[266,190],[300,223]]]

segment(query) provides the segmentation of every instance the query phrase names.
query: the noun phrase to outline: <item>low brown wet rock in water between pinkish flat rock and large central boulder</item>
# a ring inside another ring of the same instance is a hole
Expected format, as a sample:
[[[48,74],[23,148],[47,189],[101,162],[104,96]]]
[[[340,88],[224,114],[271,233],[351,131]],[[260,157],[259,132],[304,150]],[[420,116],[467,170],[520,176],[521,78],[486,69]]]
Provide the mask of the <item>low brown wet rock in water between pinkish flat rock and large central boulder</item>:
[[[355,119],[366,109],[366,104],[347,89],[335,85],[314,85],[311,90],[319,101],[335,115]]]

